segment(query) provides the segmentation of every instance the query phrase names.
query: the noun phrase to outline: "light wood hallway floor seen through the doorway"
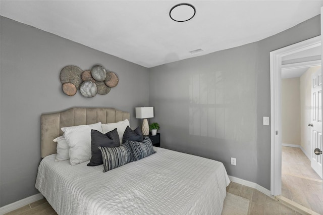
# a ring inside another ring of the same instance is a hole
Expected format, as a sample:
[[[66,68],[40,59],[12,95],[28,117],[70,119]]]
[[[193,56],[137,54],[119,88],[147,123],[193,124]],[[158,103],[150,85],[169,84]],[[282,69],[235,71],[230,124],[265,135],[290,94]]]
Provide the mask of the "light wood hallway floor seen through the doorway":
[[[323,214],[322,179],[300,148],[282,147],[282,195]]]

